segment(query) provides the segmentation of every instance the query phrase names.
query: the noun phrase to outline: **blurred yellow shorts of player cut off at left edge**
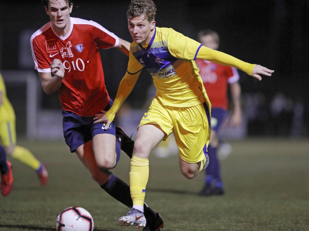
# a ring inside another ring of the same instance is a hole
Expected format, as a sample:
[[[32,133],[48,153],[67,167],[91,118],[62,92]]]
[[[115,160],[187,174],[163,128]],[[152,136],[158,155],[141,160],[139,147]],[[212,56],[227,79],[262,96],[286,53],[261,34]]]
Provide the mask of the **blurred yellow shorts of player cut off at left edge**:
[[[0,121],[0,141],[5,147],[16,144],[15,120]]]

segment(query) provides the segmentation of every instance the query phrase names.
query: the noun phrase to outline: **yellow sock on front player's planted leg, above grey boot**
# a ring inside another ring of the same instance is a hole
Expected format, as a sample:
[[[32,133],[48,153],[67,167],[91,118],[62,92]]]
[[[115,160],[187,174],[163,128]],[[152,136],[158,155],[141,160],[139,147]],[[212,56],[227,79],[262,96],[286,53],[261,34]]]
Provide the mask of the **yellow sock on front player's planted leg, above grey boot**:
[[[133,205],[144,206],[148,176],[149,176],[148,159],[132,156],[129,179],[130,179],[130,193]]]

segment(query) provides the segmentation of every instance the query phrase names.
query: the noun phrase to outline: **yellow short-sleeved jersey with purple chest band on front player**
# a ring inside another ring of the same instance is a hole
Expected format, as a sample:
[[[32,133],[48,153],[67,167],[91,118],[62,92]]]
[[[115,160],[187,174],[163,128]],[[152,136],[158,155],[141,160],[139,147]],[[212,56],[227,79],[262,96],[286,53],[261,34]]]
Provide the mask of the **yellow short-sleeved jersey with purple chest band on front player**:
[[[156,97],[163,105],[191,107],[209,101],[199,69],[195,64],[201,43],[172,28],[155,27],[146,48],[131,43],[128,73],[145,68],[157,88]]]

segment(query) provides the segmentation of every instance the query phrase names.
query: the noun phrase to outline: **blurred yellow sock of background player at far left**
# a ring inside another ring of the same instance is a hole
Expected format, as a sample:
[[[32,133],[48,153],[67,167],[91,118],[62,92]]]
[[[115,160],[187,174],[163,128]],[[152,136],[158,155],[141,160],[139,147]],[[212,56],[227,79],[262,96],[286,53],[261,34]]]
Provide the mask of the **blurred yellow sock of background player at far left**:
[[[38,161],[27,148],[16,145],[12,157],[34,170],[40,168],[40,161]]]

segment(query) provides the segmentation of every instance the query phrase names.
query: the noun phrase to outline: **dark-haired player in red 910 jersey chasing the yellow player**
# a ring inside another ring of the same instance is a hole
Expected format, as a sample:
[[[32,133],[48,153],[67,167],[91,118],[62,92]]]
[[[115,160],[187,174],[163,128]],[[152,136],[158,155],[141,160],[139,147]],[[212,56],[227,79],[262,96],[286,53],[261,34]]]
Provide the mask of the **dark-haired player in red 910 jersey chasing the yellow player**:
[[[119,161],[121,149],[132,157],[134,142],[115,121],[106,130],[104,123],[94,124],[95,116],[112,105],[99,49],[116,47],[128,56],[130,43],[96,22],[70,17],[71,0],[44,0],[44,4],[50,22],[32,35],[32,57],[45,93],[58,91],[66,144],[102,189],[131,208],[129,185],[109,170]],[[163,225],[158,213],[144,208],[145,228]]]

